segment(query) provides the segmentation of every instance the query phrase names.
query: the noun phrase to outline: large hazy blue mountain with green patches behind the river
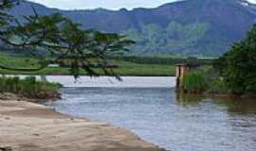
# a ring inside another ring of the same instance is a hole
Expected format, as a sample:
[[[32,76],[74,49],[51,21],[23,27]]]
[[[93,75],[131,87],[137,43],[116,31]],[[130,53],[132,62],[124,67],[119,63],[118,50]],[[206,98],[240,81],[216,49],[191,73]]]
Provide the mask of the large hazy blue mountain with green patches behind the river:
[[[256,6],[243,0],[186,0],[158,8],[60,10],[27,2],[11,10],[29,15],[60,12],[84,28],[126,34],[135,54],[220,56],[256,22]]]

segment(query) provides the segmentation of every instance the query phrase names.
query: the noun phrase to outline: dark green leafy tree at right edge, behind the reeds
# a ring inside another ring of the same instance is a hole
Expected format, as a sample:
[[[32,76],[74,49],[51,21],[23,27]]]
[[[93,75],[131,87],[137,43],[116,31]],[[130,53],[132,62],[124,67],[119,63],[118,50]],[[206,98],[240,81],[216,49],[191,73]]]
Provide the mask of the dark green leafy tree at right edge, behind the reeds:
[[[215,62],[224,82],[233,93],[256,92],[256,25],[247,38],[235,43],[231,50]]]

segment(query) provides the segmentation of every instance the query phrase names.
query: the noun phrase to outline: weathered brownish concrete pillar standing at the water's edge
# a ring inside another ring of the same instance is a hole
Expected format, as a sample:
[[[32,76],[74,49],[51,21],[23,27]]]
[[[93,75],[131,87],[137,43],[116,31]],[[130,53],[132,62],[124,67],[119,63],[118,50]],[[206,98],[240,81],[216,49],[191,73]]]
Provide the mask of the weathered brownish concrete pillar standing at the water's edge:
[[[186,63],[176,64],[176,90],[180,91],[184,76],[193,70],[198,69],[198,63]]]

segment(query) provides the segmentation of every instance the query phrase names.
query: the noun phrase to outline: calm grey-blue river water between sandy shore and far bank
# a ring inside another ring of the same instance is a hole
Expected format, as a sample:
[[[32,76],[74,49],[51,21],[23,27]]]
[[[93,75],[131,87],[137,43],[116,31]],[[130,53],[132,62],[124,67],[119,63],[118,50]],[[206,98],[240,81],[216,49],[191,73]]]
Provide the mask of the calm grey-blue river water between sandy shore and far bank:
[[[255,151],[256,100],[178,95],[174,77],[49,76],[64,84],[60,112],[106,121],[174,151]]]

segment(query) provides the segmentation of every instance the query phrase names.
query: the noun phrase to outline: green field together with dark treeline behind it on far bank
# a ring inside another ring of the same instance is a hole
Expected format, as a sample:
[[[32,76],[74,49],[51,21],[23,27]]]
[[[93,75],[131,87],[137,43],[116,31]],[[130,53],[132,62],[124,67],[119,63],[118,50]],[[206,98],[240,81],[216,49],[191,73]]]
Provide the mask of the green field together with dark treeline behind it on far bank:
[[[175,64],[186,60],[185,58],[174,56],[148,56],[148,57],[118,57],[110,59],[110,64],[118,65],[114,68],[114,72],[119,76],[175,76]],[[189,59],[197,61],[200,64],[209,66],[212,59]],[[36,68],[37,59],[26,57],[11,57],[4,53],[0,53],[0,64],[10,65],[15,68]],[[94,69],[100,75],[105,75],[101,69]],[[61,75],[69,76],[69,68],[46,68],[36,72],[10,71],[0,69],[1,74],[6,75]],[[80,71],[81,75],[88,75],[85,71]]]

